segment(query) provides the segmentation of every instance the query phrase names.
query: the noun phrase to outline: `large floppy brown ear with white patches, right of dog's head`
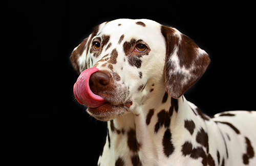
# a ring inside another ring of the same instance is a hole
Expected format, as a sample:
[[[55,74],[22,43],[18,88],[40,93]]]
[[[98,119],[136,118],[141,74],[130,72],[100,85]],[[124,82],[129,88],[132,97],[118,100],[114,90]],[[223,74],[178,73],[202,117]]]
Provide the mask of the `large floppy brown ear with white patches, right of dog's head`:
[[[208,54],[197,44],[168,26],[161,26],[166,41],[165,87],[173,98],[181,97],[203,75],[210,63]]]

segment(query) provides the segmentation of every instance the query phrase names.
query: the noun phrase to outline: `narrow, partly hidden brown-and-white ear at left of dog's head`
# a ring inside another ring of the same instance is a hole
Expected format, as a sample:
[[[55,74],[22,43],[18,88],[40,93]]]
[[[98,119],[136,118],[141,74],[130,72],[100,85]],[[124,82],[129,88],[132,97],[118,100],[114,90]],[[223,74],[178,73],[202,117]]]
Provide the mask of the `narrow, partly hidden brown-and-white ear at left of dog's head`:
[[[70,61],[73,65],[73,68],[75,71],[80,74],[83,70],[86,70],[88,68],[87,60],[87,54],[89,51],[89,47],[91,44],[91,41],[94,36],[99,31],[99,25],[94,27],[93,33],[86,39],[84,39],[72,52],[70,56]]]

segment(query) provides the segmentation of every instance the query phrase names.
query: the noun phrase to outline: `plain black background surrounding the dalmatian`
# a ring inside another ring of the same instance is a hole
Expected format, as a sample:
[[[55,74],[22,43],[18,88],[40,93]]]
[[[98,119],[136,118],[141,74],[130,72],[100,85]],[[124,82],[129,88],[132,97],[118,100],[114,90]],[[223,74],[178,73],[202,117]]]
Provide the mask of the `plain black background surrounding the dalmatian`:
[[[72,50],[104,21],[147,18],[176,27],[204,49],[211,63],[185,97],[212,116],[255,110],[255,17],[245,1],[28,3],[12,8],[15,70],[22,75],[18,144],[12,156],[33,165],[96,165],[106,122],[85,112],[73,95]],[[19,50],[18,50],[19,51]],[[12,52],[12,50],[10,50]],[[29,95],[29,97],[28,97]]]

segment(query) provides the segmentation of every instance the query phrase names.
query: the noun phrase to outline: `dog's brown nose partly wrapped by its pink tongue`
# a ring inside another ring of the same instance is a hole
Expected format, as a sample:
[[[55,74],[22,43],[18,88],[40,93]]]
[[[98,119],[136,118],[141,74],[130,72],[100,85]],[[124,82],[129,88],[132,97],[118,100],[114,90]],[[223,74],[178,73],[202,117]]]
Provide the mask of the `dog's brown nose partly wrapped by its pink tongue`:
[[[93,73],[89,80],[89,86],[94,94],[108,90],[108,85],[111,82],[111,74],[105,71],[97,71]]]

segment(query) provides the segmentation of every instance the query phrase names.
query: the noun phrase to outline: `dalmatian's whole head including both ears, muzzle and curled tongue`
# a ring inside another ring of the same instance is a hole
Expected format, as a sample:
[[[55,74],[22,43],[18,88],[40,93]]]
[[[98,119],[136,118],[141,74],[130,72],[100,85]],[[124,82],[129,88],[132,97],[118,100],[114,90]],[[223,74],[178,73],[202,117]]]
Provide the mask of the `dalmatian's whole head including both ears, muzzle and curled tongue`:
[[[170,96],[181,97],[209,64],[207,53],[191,39],[147,19],[117,19],[96,26],[70,59],[80,74],[75,96],[99,120],[132,112],[165,88]],[[90,77],[87,84],[81,83],[84,77]]]

